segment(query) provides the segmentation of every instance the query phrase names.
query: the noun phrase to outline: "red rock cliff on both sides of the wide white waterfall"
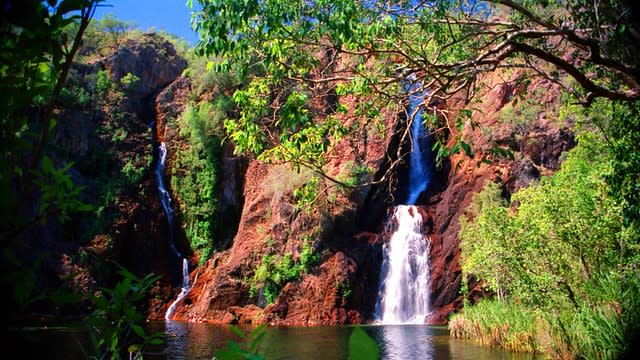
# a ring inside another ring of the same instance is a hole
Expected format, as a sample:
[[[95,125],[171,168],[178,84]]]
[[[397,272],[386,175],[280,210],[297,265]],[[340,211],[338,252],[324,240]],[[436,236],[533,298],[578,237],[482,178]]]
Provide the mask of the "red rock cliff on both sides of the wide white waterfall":
[[[514,74],[514,80],[519,75]],[[481,111],[473,114],[479,126],[467,127],[462,133],[449,136],[450,139],[463,136],[473,144],[476,157],[453,155],[436,172],[429,191],[418,201],[423,234],[430,241],[434,311],[427,322],[432,324],[445,323],[448,315],[459,310],[463,303],[459,293],[462,281],[459,218],[473,195],[482,190],[485,182],[496,181],[503,185],[508,196],[537,181],[541,175],[557,170],[562,152],[575,145],[568,126],[559,124],[552,111],[559,94],[555,85],[537,81],[522,89],[514,85],[516,81],[501,83],[491,77],[485,80],[491,90],[482,95]],[[540,88],[545,89],[543,95],[536,91]],[[515,94],[523,92],[526,98],[542,105],[524,128],[505,121],[501,115],[505,107],[513,107],[509,111],[521,110],[511,101]],[[319,102],[318,106],[321,105]],[[453,99],[446,107],[455,114],[464,104],[462,100]],[[388,114],[387,118],[388,133],[383,139],[350,139],[338,144],[335,156],[327,165],[330,173],[340,173],[354,153],[382,173],[389,161],[385,155],[395,154],[402,146],[394,133],[401,121],[395,114]],[[512,150],[515,158],[495,158],[491,164],[480,163],[496,145]],[[238,179],[237,172],[229,174],[233,174],[229,175],[233,179],[223,181]],[[175,319],[276,325],[372,320],[382,244],[390,235],[385,234],[385,222],[394,205],[389,184],[368,187],[349,196],[339,194],[333,206],[319,206],[311,214],[305,214],[294,209],[292,194],[283,191],[283,182],[306,181],[292,176],[281,166],[258,161],[249,163],[244,175],[241,220],[232,245],[191,273],[192,290],[178,306]],[[398,184],[403,183],[403,176],[406,174],[401,171]],[[223,198],[232,199],[231,194],[233,191],[225,191]],[[287,283],[275,302],[267,305],[260,291],[256,294],[255,289],[251,289],[251,277],[265,254],[289,253],[298,259],[302,239],[312,240],[313,248],[321,253],[319,263],[309,273]],[[482,296],[481,284],[475,279],[469,279],[469,287],[472,300]]]

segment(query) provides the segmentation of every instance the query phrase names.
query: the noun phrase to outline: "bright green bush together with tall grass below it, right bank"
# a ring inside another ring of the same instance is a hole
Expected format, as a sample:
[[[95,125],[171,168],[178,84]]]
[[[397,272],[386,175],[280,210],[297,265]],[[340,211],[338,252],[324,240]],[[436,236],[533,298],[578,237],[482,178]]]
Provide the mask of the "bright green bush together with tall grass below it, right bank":
[[[474,197],[461,218],[461,264],[498,301],[465,307],[450,322],[455,336],[554,357],[629,351],[640,249],[609,186],[617,161],[610,142],[585,132],[559,172],[516,192],[511,204],[493,183]]]

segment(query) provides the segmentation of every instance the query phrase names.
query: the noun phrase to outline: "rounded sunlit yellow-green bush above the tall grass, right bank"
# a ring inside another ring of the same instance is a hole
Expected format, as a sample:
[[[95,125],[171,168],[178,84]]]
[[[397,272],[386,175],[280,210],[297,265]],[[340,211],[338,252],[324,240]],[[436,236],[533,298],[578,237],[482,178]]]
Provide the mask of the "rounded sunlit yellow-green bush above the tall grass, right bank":
[[[619,261],[623,217],[607,196],[607,150],[593,136],[580,140],[561,171],[513,195],[512,209],[489,185],[470,210],[473,222],[461,220],[463,269],[499,297],[577,305],[593,274]]]

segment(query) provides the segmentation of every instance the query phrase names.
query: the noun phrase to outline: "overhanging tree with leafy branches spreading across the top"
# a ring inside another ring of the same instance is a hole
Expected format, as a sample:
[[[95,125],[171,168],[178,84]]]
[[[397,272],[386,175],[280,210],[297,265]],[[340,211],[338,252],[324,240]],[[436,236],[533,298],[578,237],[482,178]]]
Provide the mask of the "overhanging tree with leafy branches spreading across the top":
[[[482,87],[480,77],[498,68],[529,69],[585,106],[596,98],[640,99],[640,49],[632,46],[640,39],[640,14],[631,1],[199,3],[199,53],[217,56],[217,70],[246,75],[246,87],[234,97],[240,116],[227,125],[238,151],[320,172],[330,144],[309,142],[355,137],[363,126],[379,124],[385,109],[408,108],[412,94],[427,95],[407,114],[403,140],[417,110],[429,108],[425,113],[438,115],[425,120],[439,154],[462,149],[471,155],[464,139],[444,146],[456,123],[470,119],[450,118],[433,105],[452,96],[469,101]],[[348,94],[357,96],[350,116],[360,125],[349,129],[325,123],[344,108],[322,114],[309,102]]]

